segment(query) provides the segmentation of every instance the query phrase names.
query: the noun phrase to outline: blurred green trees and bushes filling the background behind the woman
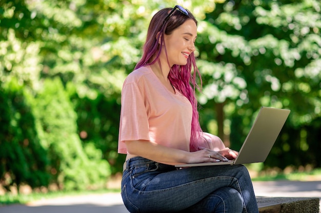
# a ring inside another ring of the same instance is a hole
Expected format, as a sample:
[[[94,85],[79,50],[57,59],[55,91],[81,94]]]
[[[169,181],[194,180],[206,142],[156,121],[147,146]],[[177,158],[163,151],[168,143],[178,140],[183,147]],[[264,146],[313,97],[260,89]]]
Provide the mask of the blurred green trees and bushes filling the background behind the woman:
[[[261,106],[291,109],[258,172],[321,167],[318,0],[0,0],[0,185],[106,187],[121,88],[148,23],[179,4],[198,19],[204,131],[238,150]]]

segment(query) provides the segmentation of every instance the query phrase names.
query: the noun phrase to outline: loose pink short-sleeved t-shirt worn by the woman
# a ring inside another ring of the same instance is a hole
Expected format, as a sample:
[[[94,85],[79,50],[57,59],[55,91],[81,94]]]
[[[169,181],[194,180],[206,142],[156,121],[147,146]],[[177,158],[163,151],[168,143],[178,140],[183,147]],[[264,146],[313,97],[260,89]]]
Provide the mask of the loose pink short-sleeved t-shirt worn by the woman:
[[[170,92],[150,66],[134,70],[122,90],[118,153],[128,154],[124,141],[149,140],[189,151],[192,105],[177,89]]]

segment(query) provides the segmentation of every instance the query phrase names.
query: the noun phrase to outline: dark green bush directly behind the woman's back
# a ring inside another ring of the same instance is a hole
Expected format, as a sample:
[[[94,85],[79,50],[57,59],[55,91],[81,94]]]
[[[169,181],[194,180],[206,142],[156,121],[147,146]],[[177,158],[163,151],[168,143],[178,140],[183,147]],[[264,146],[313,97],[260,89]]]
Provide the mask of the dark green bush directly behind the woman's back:
[[[122,173],[126,155],[117,153],[121,111],[117,99],[120,95],[107,98],[95,91],[95,98],[79,97],[75,85],[68,83],[67,88],[77,113],[77,126],[83,143],[92,143],[102,151],[103,159],[111,165],[112,174]]]

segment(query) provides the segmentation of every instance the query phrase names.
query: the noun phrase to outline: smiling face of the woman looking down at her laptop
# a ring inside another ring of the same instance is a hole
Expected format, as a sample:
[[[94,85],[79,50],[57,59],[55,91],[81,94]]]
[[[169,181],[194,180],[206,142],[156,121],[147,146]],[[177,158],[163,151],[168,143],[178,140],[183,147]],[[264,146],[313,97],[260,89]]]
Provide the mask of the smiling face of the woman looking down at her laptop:
[[[170,66],[174,64],[186,65],[189,55],[195,51],[196,37],[197,27],[192,19],[186,20],[170,35],[165,35],[164,41]],[[166,60],[164,48],[160,57],[164,57]]]

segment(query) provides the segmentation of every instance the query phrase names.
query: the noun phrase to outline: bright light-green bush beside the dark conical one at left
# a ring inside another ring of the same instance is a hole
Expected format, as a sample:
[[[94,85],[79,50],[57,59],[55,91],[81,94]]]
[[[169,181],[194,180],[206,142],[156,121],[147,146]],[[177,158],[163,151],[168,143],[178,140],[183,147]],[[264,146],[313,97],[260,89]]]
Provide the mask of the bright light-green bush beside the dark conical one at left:
[[[44,81],[33,109],[39,137],[51,160],[50,172],[59,188],[102,187],[110,176],[110,165],[94,146],[83,147],[76,113],[59,78]]]

